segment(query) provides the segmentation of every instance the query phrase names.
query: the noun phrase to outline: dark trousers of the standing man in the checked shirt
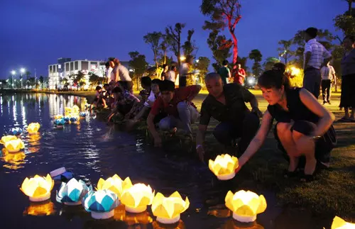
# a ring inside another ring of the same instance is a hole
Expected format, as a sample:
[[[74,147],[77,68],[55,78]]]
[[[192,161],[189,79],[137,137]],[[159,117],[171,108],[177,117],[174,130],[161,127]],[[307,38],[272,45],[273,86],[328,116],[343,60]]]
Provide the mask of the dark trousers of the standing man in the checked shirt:
[[[320,69],[309,68],[305,71],[305,76],[303,77],[303,88],[307,89],[312,93],[316,99],[320,96],[320,82],[322,77],[320,74]]]

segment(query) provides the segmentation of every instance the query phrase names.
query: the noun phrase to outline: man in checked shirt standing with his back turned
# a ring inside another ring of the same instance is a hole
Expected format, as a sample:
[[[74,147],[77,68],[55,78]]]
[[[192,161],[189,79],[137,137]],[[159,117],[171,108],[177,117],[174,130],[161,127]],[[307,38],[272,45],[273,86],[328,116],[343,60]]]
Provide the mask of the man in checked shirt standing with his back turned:
[[[320,96],[320,82],[322,77],[320,69],[327,65],[332,59],[332,55],[324,46],[317,42],[318,30],[317,28],[307,28],[305,30],[305,62],[303,69],[305,69],[305,76],[303,77],[303,87],[310,91],[317,99]]]

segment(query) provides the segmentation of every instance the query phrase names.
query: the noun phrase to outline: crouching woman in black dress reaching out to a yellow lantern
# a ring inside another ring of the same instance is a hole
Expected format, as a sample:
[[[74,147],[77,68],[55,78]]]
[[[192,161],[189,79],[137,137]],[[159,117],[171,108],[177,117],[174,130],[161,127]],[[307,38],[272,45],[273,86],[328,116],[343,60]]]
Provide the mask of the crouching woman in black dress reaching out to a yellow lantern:
[[[285,175],[290,177],[297,174],[300,159],[305,157],[302,180],[312,180],[317,161],[319,165],[329,167],[330,151],[336,143],[332,128],[334,115],[306,89],[290,89],[283,72],[264,72],[258,79],[258,85],[268,101],[268,111],[264,113],[258,133],[239,158],[239,169],[261,147],[275,119],[275,138],[280,150],[287,153],[290,161]]]

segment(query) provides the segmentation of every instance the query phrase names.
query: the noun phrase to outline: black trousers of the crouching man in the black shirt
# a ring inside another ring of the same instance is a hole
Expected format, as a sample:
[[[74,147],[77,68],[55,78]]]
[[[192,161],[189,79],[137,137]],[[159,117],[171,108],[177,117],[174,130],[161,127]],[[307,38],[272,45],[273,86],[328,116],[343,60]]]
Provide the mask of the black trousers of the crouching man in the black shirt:
[[[259,118],[255,113],[249,113],[239,124],[222,122],[214,128],[213,135],[222,145],[230,146],[231,141],[241,138],[239,152],[243,153],[256,135],[259,128]]]

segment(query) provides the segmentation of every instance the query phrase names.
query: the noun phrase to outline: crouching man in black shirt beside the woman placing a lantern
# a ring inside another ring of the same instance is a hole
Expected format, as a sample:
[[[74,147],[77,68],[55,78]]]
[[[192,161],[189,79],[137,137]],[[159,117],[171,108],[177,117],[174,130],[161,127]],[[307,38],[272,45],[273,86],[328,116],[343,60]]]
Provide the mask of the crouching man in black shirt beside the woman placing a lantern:
[[[223,85],[217,73],[209,73],[204,79],[209,95],[201,107],[200,125],[196,138],[196,150],[204,160],[204,136],[211,117],[220,123],[214,128],[214,137],[225,146],[232,146],[234,139],[239,141],[239,153],[243,153],[259,128],[259,118],[263,116],[258,101],[250,91],[239,84]],[[246,106],[251,104],[252,110]]]

